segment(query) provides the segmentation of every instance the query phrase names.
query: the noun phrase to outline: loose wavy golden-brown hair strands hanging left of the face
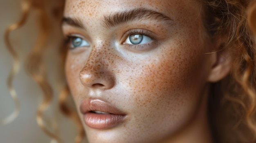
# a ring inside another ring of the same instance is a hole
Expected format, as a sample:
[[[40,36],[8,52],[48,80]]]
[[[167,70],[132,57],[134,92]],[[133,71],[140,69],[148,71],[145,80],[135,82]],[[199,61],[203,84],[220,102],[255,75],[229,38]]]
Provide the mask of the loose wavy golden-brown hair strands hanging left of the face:
[[[49,4],[54,2],[55,4]],[[54,95],[53,95],[52,86],[47,80],[48,79],[47,68],[44,62],[44,57],[46,53],[45,51],[47,49],[47,43],[49,42],[49,35],[52,34],[51,22],[61,23],[61,18],[62,18],[62,13],[64,8],[64,0],[56,0],[56,1],[22,0],[21,4],[22,4],[21,20],[9,26],[5,33],[5,42],[7,44],[7,48],[13,55],[13,69],[8,79],[8,87],[10,88],[11,96],[16,102],[16,111],[13,112],[13,114],[11,114],[9,117],[4,119],[1,123],[9,123],[10,121],[12,121],[17,116],[18,110],[19,110],[17,95],[11,85],[13,77],[16,75],[18,71],[18,66],[19,66],[18,55],[9,42],[9,33],[19,28],[20,26],[23,26],[26,22],[29,12],[33,11],[36,14],[36,18],[37,18],[36,20],[38,20],[38,38],[37,38],[36,44],[32,47],[31,52],[27,57],[26,70],[27,70],[27,73],[36,81],[36,83],[38,84],[38,86],[43,92],[43,101],[38,106],[36,121],[39,127],[43,130],[43,132],[45,132],[53,141],[62,142],[61,138],[57,135],[56,130],[49,129],[45,125],[44,112],[47,110],[47,108],[49,107],[49,104],[52,102]],[[49,6],[53,6],[53,7],[49,7]],[[52,18],[54,18],[55,20],[53,20]],[[66,53],[65,50],[63,52],[63,44],[61,44],[60,50],[59,50],[60,73],[63,72],[65,53]],[[64,81],[62,80],[62,79],[65,79],[64,73],[60,74],[59,76],[60,76],[59,83],[62,88],[59,93],[59,109],[65,116],[69,117],[76,123],[79,134],[74,139],[74,142],[80,143],[84,138],[85,132],[83,130],[83,126],[81,124],[81,121],[76,111],[72,110],[67,105],[66,99],[70,95],[70,91],[67,87],[67,84],[63,85],[63,83],[66,83],[65,80]]]

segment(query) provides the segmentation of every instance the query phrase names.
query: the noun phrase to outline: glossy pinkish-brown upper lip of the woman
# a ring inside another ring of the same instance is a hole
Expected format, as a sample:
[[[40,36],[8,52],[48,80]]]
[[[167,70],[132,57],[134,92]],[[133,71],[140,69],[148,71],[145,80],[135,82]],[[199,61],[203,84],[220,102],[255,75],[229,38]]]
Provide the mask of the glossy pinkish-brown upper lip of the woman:
[[[107,112],[110,114],[117,114],[117,115],[126,115],[121,110],[117,109],[112,104],[103,101],[101,99],[85,99],[80,105],[80,111],[83,114],[86,114],[90,111],[101,111]]]

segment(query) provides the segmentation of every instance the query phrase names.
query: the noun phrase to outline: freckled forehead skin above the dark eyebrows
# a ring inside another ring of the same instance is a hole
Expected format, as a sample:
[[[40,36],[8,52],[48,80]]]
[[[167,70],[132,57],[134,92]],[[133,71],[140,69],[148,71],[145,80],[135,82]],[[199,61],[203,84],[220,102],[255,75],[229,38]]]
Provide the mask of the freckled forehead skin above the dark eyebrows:
[[[136,8],[152,9],[177,19],[198,16],[201,4],[197,0],[66,0],[64,16],[95,21]]]

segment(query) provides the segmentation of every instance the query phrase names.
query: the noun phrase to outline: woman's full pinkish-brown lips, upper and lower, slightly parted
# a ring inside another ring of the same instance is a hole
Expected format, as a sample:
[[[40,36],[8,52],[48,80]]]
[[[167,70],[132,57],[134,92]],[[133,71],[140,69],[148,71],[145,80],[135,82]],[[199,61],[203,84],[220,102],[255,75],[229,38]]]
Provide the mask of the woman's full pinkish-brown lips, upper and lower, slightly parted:
[[[86,125],[94,129],[109,129],[119,125],[126,118],[126,114],[112,104],[100,99],[85,99],[80,105],[83,120]],[[91,111],[101,111],[110,114],[97,114]]]

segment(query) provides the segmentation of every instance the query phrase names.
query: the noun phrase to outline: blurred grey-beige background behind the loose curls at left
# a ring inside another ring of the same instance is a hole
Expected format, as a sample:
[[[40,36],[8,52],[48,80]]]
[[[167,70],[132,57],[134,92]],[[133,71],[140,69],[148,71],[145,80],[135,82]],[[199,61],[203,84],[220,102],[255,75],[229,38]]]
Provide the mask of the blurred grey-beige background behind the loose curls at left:
[[[20,0],[0,0],[0,120],[9,116],[15,109],[14,101],[12,100],[9,91],[7,90],[7,77],[11,71],[12,57],[7,51],[4,44],[4,31],[10,24],[20,20],[21,7]],[[24,69],[25,59],[36,41],[36,21],[33,13],[29,14],[25,26],[11,32],[11,44],[18,52],[20,57],[20,71],[15,76],[13,85],[18,94],[20,101],[20,113],[18,117],[11,123],[0,125],[0,143],[53,143],[50,137],[47,136],[36,123],[36,110],[39,103],[43,100],[42,91],[38,85],[31,79]],[[54,41],[54,39],[52,39]],[[52,49],[57,45],[49,45]],[[54,57],[54,55],[50,56]],[[51,59],[49,59],[50,61]],[[56,62],[51,62],[49,67],[54,67]],[[55,68],[49,68],[49,73],[54,73]],[[56,72],[55,72],[56,73]],[[56,88],[54,75],[52,79],[52,86]],[[52,128],[55,123],[59,123],[58,132],[64,143],[74,142],[76,136],[75,124],[63,115],[59,114],[56,109],[57,97],[46,112],[46,116],[50,120],[48,125]]]

